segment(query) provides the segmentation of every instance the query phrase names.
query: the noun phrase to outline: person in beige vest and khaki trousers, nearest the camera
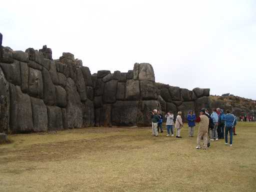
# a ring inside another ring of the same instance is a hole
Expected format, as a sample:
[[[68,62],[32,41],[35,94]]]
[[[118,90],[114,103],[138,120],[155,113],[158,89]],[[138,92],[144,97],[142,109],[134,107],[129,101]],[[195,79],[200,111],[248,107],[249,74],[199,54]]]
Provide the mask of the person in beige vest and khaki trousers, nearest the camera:
[[[201,140],[201,137],[203,137],[203,148],[207,149],[209,118],[205,115],[204,109],[200,110],[200,116],[196,118],[196,122],[199,122],[199,128],[197,133],[197,144],[195,148],[197,149],[201,148],[200,140]]]

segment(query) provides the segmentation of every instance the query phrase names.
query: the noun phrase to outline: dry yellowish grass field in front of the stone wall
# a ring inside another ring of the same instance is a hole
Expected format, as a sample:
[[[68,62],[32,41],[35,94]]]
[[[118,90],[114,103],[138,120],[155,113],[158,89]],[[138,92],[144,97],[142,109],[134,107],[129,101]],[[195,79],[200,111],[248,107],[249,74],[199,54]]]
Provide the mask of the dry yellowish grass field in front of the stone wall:
[[[256,123],[238,123],[233,146],[150,127],[91,127],[9,135],[0,145],[0,191],[256,191]],[[195,135],[197,130],[195,131]]]

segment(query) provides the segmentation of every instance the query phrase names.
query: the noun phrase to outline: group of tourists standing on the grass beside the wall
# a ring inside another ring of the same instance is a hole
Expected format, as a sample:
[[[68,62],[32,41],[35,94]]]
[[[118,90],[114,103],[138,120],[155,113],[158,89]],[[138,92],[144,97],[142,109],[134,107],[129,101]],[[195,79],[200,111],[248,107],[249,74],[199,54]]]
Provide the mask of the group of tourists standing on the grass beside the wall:
[[[166,136],[174,136],[174,130],[176,129],[176,138],[182,138],[180,136],[180,129],[183,127],[182,112],[178,111],[177,116],[174,119],[172,111],[167,112],[164,117],[166,118]],[[152,118],[152,136],[158,136],[159,130],[163,132],[162,122],[163,116],[160,111],[154,109],[151,114]],[[200,149],[200,140],[203,139],[203,147],[207,149],[210,145],[210,141],[217,141],[218,139],[225,139],[225,144],[228,144],[227,135],[229,132],[229,145],[232,146],[232,135],[235,133],[236,117],[226,110],[226,114],[220,108],[213,108],[210,114],[208,109],[202,108],[200,115],[196,117],[195,113],[190,110],[186,116],[188,123],[188,136],[193,137],[195,122],[199,123],[197,133],[197,145],[196,148]],[[208,139],[210,137],[210,139]]]

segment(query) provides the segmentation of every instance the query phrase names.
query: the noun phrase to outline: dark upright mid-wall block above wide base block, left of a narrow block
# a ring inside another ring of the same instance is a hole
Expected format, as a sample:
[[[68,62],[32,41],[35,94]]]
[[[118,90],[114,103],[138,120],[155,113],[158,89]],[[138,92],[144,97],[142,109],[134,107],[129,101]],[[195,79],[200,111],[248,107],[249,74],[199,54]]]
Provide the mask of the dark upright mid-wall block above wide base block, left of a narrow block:
[[[116,89],[117,89],[118,80],[110,80],[104,85],[104,93],[103,93],[103,102],[104,103],[114,103],[116,98]]]

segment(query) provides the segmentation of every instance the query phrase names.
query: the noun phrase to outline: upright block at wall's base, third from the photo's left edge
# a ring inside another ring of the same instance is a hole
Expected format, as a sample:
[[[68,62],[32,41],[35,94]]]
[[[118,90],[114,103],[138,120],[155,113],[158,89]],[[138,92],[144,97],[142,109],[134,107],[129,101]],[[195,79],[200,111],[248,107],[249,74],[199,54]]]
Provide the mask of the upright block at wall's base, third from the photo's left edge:
[[[33,131],[47,131],[47,108],[43,100],[39,98],[30,97],[32,117],[33,117]]]

